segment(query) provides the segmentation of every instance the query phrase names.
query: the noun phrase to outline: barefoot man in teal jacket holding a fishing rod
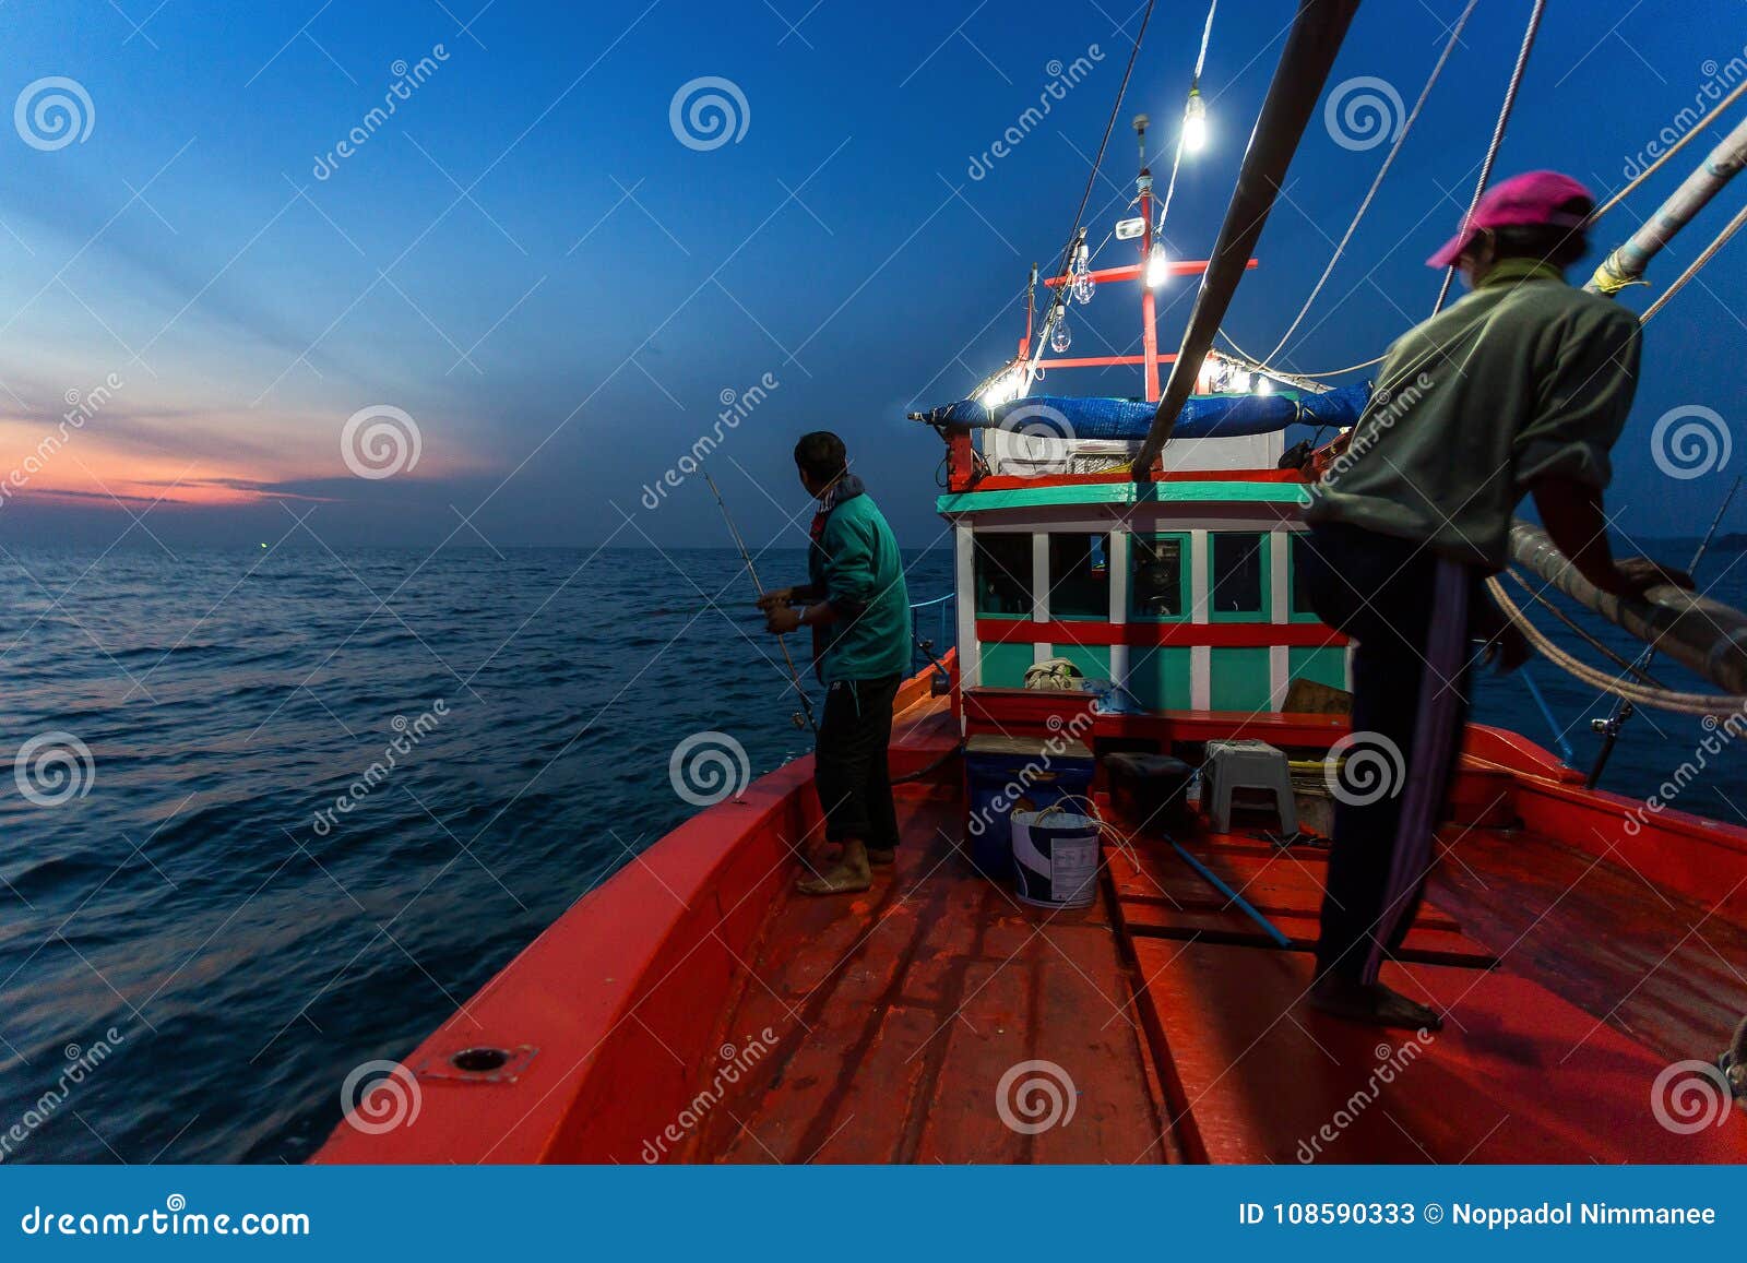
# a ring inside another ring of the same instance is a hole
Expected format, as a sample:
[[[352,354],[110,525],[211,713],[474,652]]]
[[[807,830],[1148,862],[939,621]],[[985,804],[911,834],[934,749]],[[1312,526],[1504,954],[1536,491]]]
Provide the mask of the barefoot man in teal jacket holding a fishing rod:
[[[819,501],[807,550],[807,582],[765,592],[758,608],[783,636],[812,629],[812,666],[825,685],[814,751],[814,786],[825,837],[842,845],[835,865],[802,877],[802,894],[849,894],[874,884],[898,845],[886,749],[891,707],[910,667],[910,594],[891,528],[849,472],[844,440],[802,435],[795,468]]]

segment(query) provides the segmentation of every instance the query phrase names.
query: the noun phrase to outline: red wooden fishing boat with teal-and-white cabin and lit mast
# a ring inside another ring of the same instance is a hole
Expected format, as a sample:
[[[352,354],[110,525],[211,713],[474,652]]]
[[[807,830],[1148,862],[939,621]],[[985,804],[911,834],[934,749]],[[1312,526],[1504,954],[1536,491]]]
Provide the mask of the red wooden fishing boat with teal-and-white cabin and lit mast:
[[[991,412],[1041,367],[1139,362],[1160,397],[1151,285],[1204,266],[1151,266],[1144,169],[1137,192],[1116,236],[1143,262],[1092,273],[1081,229],[1041,330],[1027,311],[1019,355],[975,391]],[[1237,210],[1228,225],[1251,222]],[[1141,283],[1144,355],[1043,358],[1066,349],[1064,295],[1099,280]],[[1305,386],[1261,369],[1207,360],[1209,411]],[[753,781],[580,900],[316,1162],[1747,1158],[1714,1064],[1747,1013],[1747,828],[1585,788],[1471,725],[1427,901],[1385,964],[1445,1029],[1319,1015],[1303,996],[1326,849],[1202,812],[1167,837],[1106,779],[1113,751],[1198,760],[1242,737],[1314,767],[1349,735],[1298,702],[1345,683],[1340,638],[1295,585],[1315,465],[1279,468],[1279,431],[1177,437],[1137,484],[1132,445],[1057,437],[1039,465],[1036,435],[936,424],[956,648],[896,702],[896,866],[861,896],[795,894],[823,845],[812,760]],[[1050,659],[1129,704],[1025,688]],[[1062,734],[1097,760],[1113,828],[1090,907],[1038,908],[970,863],[961,751]]]

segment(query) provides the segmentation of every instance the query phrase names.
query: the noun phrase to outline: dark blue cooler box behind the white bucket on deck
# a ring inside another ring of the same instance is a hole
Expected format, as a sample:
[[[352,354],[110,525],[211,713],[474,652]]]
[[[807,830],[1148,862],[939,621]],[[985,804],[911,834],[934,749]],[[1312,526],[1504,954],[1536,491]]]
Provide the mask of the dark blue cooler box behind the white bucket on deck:
[[[1090,797],[1094,770],[1092,749],[1080,741],[971,737],[964,744],[964,849],[977,872],[1012,884],[1013,812]]]

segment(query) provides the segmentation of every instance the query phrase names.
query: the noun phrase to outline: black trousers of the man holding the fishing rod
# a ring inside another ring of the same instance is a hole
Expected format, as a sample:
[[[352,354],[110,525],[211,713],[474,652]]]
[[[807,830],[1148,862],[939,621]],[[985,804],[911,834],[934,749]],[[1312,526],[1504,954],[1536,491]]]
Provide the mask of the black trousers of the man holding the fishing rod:
[[[875,849],[898,845],[891,804],[891,704],[901,676],[839,680],[825,690],[825,716],[812,763],[812,784],[825,809],[825,837],[858,839]]]

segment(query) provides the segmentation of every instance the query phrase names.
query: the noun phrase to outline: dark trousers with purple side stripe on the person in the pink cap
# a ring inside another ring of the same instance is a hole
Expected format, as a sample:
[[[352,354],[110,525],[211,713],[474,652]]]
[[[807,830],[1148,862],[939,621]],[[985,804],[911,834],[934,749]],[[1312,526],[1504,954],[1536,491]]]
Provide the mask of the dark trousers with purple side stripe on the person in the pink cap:
[[[1476,575],[1422,545],[1345,524],[1314,526],[1309,543],[1310,603],[1356,641],[1317,973],[1375,982],[1413,924],[1436,858],[1467,720]]]

